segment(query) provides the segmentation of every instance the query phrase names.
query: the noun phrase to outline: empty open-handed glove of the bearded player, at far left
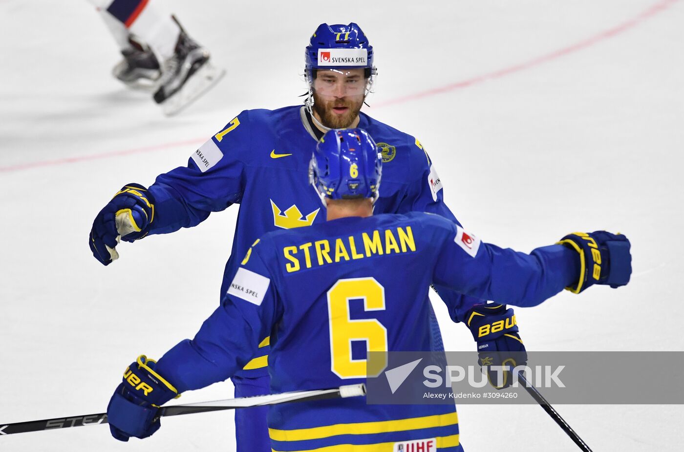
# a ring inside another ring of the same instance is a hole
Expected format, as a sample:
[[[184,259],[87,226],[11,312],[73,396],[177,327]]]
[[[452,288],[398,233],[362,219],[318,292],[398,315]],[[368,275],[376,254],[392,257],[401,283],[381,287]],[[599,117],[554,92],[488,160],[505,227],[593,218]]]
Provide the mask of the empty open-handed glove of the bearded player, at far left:
[[[109,265],[118,258],[119,237],[135,241],[147,235],[155,220],[155,199],[140,184],[125,185],[97,214],[92,223],[88,243],[95,258]]]

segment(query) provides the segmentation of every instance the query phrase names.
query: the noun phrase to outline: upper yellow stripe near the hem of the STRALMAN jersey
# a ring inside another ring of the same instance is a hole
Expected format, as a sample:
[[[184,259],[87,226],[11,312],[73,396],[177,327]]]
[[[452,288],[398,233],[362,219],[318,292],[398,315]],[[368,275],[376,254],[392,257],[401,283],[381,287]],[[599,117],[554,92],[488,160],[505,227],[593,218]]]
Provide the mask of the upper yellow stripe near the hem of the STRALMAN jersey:
[[[429,429],[432,427],[444,427],[446,425],[454,424],[458,424],[458,414],[456,414],[456,412],[417,418],[395,419],[393,421],[324,425],[323,427],[313,427],[309,429],[268,429],[268,433],[274,441],[304,441],[318,440],[320,438],[328,438],[337,435],[370,435],[387,433],[389,431]],[[324,449],[328,450],[327,448]]]

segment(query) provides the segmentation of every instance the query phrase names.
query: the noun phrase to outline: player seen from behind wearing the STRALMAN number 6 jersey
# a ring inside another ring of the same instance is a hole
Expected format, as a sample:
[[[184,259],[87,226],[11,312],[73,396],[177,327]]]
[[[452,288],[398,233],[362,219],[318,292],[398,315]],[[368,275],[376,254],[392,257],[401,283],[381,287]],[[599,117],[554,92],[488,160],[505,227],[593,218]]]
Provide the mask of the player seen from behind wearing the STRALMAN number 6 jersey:
[[[382,166],[365,131],[326,133],[310,178],[328,221],[254,241],[195,338],[159,362],[140,356],[129,366],[107,408],[115,438],[154,434],[159,406],[234,375],[265,336],[274,393],[362,383],[382,372],[386,361],[353,356],[354,341],[365,341],[367,351],[431,350],[430,284],[534,306],[564,287],[629,281],[623,235],[574,233],[523,254],[481,242],[438,215],[373,215]],[[270,407],[269,427],[273,451],[463,450],[453,405],[367,405],[361,397],[289,403]]]

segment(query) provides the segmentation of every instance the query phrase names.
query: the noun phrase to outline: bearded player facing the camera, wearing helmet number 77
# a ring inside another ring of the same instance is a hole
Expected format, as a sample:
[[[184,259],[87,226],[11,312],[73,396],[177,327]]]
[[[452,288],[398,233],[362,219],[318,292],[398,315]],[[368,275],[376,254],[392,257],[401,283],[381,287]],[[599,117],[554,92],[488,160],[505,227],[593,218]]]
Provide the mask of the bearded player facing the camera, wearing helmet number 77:
[[[211,212],[239,204],[231,257],[221,294],[252,243],[279,229],[325,221],[315,193],[306,185],[311,153],[330,128],[361,127],[375,139],[384,163],[383,189],[376,213],[430,212],[456,222],[443,201],[439,176],[421,143],[360,112],[376,68],[373,47],[358,25],[320,25],[306,47],[308,98],[304,106],[242,111],[189,159],[187,167],[160,174],[149,188],[123,187],[94,220],[89,237],[94,256],[107,265],[116,249],[116,224],[124,241],[165,234],[200,224]],[[126,220],[128,218],[128,220]],[[111,255],[110,255],[111,252]],[[477,300],[437,287],[453,319],[464,321]],[[484,311],[492,321],[512,317],[511,310]],[[434,314],[432,347],[441,348]],[[490,349],[524,351],[517,333],[479,337]],[[268,392],[269,338],[233,377],[236,397]],[[239,452],[269,451],[265,408],[236,413]],[[261,442],[260,442],[261,438]]]

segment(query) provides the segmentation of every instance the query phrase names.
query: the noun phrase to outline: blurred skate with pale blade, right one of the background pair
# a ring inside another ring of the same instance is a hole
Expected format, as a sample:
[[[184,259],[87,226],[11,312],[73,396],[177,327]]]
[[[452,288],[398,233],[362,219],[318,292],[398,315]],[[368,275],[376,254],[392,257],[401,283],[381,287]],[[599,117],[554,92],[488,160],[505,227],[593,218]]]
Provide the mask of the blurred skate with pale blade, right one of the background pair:
[[[175,53],[163,63],[155,102],[161,104],[164,114],[172,116],[213,87],[225,72],[209,62],[209,51],[181,27]]]

